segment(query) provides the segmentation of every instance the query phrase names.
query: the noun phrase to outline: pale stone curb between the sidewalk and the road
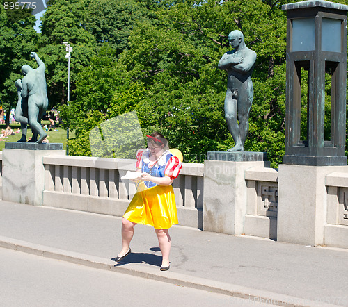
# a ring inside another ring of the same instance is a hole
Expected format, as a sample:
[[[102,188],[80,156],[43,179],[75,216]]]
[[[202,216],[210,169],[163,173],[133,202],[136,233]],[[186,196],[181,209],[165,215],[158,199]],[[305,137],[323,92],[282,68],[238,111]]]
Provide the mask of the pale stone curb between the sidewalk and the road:
[[[261,302],[274,306],[289,306],[289,307],[321,307],[321,306],[337,306],[331,304],[323,304],[319,301],[310,301],[309,299],[301,299],[299,297],[292,297],[285,294],[278,294],[264,290],[253,288],[246,288],[239,285],[229,283],[221,283],[219,281],[212,281],[209,279],[202,279],[195,276],[175,273],[175,272],[161,272],[156,268],[146,267],[134,263],[127,263],[127,267],[117,265],[113,260],[107,258],[100,258],[97,256],[90,256],[86,254],[79,254],[74,251],[65,251],[63,249],[56,249],[54,247],[46,247],[40,244],[25,242],[12,238],[0,236],[0,247],[6,249],[13,249],[15,251],[22,251],[24,253],[33,254],[62,260],[69,263],[93,267],[95,269],[106,269],[112,272],[122,274],[129,274],[132,276],[142,277],[145,279],[152,279],[164,283],[172,283],[187,288],[194,288],[204,290],[207,292],[214,292],[218,294],[229,295],[231,297],[238,297],[252,302]]]

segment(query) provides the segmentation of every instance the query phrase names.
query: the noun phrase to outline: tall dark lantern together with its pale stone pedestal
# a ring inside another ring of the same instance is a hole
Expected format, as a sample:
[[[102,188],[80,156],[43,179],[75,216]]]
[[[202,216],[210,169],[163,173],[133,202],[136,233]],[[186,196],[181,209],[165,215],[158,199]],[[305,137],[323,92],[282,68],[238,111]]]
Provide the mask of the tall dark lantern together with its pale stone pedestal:
[[[348,6],[309,0],[282,8],[287,11],[287,100],[285,156],[278,171],[277,240],[317,246],[325,244],[330,214],[326,176],[348,173]]]

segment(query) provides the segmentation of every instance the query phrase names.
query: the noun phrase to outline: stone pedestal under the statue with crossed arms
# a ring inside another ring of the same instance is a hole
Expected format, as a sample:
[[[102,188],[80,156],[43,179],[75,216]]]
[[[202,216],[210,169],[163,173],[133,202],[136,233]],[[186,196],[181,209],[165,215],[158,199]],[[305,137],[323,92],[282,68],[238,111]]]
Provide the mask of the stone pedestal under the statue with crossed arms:
[[[251,167],[269,167],[267,154],[210,151],[204,163],[203,230],[231,235],[244,233],[246,181]]]

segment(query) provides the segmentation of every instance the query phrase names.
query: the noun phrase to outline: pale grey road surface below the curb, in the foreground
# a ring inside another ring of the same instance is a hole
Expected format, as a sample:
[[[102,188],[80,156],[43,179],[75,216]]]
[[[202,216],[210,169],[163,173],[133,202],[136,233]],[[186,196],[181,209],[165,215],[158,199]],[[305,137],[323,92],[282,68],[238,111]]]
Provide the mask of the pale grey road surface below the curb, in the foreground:
[[[269,306],[0,248],[1,306]]]

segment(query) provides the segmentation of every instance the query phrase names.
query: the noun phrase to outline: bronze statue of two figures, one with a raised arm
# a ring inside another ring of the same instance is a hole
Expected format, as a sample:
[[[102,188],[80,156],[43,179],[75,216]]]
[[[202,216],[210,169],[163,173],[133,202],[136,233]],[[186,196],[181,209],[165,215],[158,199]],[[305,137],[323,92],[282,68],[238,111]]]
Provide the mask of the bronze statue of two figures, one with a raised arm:
[[[22,81],[15,82],[18,91],[15,120],[21,123],[22,128],[22,138],[18,142],[26,142],[26,125],[29,124],[33,130],[33,138],[29,142],[42,143],[47,137],[40,124],[48,106],[46,67],[35,52],[32,52],[31,56],[38,63],[38,68],[33,69],[29,65],[22,66],[24,77]],[[40,135],[39,139],[38,135]]]

